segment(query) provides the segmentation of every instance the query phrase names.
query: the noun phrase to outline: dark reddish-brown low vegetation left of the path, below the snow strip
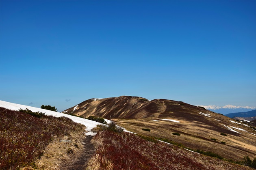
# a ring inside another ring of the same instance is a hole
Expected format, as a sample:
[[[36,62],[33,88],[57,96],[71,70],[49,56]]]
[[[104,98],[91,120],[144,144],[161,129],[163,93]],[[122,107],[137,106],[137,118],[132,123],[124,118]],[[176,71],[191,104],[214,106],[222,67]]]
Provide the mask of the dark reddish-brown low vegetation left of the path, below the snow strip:
[[[39,117],[40,118],[39,118]],[[0,108],[0,169],[34,166],[43,149],[55,138],[69,136],[84,126],[66,117],[54,117],[23,110]]]

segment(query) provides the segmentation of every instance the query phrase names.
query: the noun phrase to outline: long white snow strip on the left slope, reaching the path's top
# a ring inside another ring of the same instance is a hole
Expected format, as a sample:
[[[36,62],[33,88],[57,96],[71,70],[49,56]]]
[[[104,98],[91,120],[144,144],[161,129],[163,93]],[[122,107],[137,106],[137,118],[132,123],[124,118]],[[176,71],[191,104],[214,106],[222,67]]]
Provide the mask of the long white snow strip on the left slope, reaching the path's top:
[[[7,108],[7,109],[10,109],[10,110],[17,110],[17,111],[20,110],[20,109],[25,110],[27,108],[27,109],[31,110],[32,112],[43,112],[46,115],[52,115],[52,116],[55,116],[55,117],[64,116],[64,117],[70,118],[72,121],[74,121],[76,123],[81,123],[82,125],[85,125],[86,126],[85,130],[87,131],[87,133],[89,131],[91,131],[91,129],[95,128],[97,125],[103,125],[102,123],[91,121],[91,120],[88,120],[88,119],[85,119],[85,118],[72,116],[72,115],[69,115],[69,114],[54,112],[54,111],[51,111],[51,110],[46,110],[46,109],[41,109],[41,108],[34,108],[34,107],[31,107],[31,106],[27,106],[27,105],[9,103],[7,101],[2,101],[2,100],[0,100],[0,107]],[[89,134],[91,135],[91,133],[89,133]]]

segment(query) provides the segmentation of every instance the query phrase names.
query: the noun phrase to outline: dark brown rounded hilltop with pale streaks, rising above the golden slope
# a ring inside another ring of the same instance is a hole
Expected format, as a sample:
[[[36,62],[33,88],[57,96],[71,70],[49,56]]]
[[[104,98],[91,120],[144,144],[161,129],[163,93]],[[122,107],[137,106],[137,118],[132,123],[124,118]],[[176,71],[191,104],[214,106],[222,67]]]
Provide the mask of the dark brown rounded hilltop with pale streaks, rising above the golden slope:
[[[205,111],[194,105],[166,99],[149,101],[142,97],[120,96],[106,99],[89,99],[64,110],[62,113],[76,116],[101,116],[104,118],[164,118],[188,114],[193,119],[198,112]],[[207,111],[210,112],[210,111]],[[198,117],[198,116],[197,116]]]

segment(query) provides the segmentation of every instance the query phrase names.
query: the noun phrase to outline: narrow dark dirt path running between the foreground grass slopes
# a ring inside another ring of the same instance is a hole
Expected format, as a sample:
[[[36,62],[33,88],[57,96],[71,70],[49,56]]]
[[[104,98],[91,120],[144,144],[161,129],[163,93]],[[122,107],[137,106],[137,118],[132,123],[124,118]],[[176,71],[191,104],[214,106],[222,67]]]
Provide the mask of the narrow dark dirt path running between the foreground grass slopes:
[[[93,144],[91,144],[91,138],[87,136],[83,140],[84,150],[80,155],[74,158],[72,162],[66,162],[63,166],[60,167],[61,170],[85,170],[87,167],[87,162],[95,152]]]

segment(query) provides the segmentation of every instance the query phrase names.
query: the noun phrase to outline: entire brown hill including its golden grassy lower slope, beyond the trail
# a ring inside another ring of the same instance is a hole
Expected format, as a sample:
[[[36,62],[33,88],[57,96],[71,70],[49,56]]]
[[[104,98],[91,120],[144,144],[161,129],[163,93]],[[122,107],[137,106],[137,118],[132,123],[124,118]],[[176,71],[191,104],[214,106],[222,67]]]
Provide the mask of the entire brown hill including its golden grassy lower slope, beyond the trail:
[[[226,159],[241,161],[247,155],[251,159],[256,157],[256,130],[252,128],[253,124],[235,121],[222,114],[182,101],[167,99],[149,101],[142,97],[131,96],[89,99],[63,113],[82,117],[93,115],[112,118],[129,131],[145,136],[168,138],[185,147],[211,151]],[[143,128],[151,131],[143,131]],[[181,135],[173,135],[174,132]],[[220,133],[225,133],[227,136]]]

